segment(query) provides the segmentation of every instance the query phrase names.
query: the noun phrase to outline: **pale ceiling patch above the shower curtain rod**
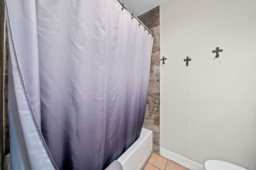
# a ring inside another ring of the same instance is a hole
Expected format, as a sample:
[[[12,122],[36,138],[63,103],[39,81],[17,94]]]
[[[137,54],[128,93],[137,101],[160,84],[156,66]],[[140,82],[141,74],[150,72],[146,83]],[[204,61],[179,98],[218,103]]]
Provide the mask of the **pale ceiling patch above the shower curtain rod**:
[[[121,0],[136,16],[160,6],[168,0]]]

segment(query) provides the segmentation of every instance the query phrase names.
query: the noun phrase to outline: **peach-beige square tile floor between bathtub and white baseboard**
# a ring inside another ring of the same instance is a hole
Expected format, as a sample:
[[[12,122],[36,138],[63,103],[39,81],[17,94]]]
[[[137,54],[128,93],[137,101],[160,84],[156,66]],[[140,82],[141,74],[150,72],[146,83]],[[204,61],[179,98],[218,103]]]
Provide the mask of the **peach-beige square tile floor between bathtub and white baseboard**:
[[[188,169],[153,152],[141,170],[188,170]]]

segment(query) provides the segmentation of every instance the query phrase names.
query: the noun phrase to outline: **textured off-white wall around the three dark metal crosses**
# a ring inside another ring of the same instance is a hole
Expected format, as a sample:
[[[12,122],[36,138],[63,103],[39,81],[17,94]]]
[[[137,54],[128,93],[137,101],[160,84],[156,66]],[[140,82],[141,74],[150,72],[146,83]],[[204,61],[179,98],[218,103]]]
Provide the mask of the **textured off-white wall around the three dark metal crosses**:
[[[160,6],[161,148],[256,170],[255,9],[255,0]]]

